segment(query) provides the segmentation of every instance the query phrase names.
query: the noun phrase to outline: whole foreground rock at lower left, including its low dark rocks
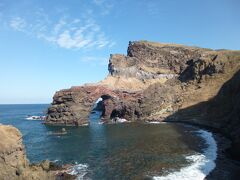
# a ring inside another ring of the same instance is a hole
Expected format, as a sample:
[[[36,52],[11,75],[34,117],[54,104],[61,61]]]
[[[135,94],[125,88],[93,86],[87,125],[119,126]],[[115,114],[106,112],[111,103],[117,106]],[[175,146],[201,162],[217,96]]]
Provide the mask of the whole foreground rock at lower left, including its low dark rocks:
[[[70,166],[69,166],[70,167]],[[30,164],[22,143],[22,134],[13,126],[0,124],[0,180],[73,180],[66,168],[48,160]]]

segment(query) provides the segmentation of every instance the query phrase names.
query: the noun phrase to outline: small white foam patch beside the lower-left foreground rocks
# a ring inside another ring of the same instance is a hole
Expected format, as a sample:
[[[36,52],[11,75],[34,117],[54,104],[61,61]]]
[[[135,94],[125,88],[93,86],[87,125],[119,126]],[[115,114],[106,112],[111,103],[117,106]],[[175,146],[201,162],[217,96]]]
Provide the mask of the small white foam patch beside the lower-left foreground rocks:
[[[67,173],[77,176],[77,180],[86,179],[84,176],[88,173],[88,165],[87,164],[74,165],[68,170]]]

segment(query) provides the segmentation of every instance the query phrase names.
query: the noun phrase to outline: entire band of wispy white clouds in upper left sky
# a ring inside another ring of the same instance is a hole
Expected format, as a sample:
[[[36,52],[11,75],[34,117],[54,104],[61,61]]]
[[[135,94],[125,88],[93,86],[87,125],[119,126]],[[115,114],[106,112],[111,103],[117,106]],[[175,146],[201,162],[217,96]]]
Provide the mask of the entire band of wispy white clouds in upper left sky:
[[[56,23],[51,23],[51,20],[43,12],[39,13],[39,16],[41,18],[37,18],[32,23],[15,17],[11,19],[9,26],[14,30],[31,34],[65,49],[103,48],[112,47],[114,44],[92,18],[63,17]]]

